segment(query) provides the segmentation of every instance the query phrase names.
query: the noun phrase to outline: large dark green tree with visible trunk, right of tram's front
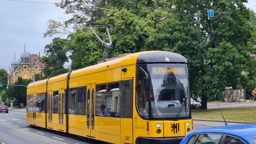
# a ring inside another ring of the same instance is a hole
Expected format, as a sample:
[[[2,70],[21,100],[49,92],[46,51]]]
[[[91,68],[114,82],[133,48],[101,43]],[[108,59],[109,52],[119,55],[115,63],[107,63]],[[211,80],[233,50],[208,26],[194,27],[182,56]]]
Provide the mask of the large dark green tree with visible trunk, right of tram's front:
[[[175,4],[182,6],[183,12],[178,9],[174,11],[180,21],[189,21],[193,23],[192,27],[200,26],[199,31],[207,44],[201,52],[194,55],[199,59],[197,62],[189,61],[195,64],[190,72],[196,72],[190,75],[190,80],[193,81],[190,84],[194,85],[192,91],[202,95],[203,109],[207,108],[207,98],[214,100],[213,96],[216,95],[223,99],[225,87],[232,86],[236,89],[242,72],[251,61],[247,49],[253,49],[249,43],[253,31],[253,26],[249,23],[252,14],[243,2],[246,1],[188,0],[186,3],[177,1]],[[214,17],[208,18],[205,9],[215,10]],[[188,55],[191,56],[193,55]]]

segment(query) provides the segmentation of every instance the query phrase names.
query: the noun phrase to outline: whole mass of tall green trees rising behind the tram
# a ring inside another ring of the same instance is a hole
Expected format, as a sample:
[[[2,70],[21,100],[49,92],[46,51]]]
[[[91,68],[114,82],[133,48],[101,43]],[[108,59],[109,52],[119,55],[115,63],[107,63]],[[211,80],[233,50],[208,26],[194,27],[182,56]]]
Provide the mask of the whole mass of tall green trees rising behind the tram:
[[[191,94],[202,96],[202,108],[208,100],[223,100],[226,87],[249,88],[256,86],[255,60],[248,52],[255,53],[255,13],[245,7],[246,0],[140,0],[140,1],[84,1],[62,0],[57,6],[76,5],[74,21],[108,23],[113,47],[107,58],[122,53],[148,50],[176,52],[189,63]],[[111,12],[91,8],[98,6],[114,9]],[[85,7],[90,7],[85,10]],[[207,10],[214,10],[209,18]],[[156,12],[155,10],[172,15]],[[100,15],[101,14],[101,15]],[[161,21],[161,18],[168,17]],[[74,21],[68,22],[74,22]],[[68,24],[68,23],[66,23]],[[103,41],[108,41],[106,29],[94,28]],[[88,28],[76,27],[68,37],[72,53],[71,69],[83,68],[100,61],[104,48]],[[251,88],[250,88],[251,89]],[[248,90],[247,90],[248,91]]]

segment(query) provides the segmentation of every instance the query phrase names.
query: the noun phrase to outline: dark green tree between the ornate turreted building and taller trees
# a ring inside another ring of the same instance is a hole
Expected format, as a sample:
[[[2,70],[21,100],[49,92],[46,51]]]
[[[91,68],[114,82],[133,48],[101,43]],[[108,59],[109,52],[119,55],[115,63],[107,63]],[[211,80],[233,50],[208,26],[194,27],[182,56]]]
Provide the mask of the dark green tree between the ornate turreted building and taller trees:
[[[51,44],[47,44],[44,47],[46,56],[39,58],[39,61],[43,62],[46,66],[43,69],[44,76],[53,77],[68,72],[64,68],[64,63],[68,62],[68,57],[66,56],[68,51],[67,41],[67,39],[57,37],[52,40]]]

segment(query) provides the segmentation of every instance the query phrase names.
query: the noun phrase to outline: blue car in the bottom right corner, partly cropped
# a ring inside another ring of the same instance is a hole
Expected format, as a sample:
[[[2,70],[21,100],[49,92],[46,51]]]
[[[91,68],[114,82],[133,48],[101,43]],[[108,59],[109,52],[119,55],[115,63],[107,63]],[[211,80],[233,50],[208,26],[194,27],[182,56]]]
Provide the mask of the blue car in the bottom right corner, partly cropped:
[[[189,131],[180,144],[256,144],[256,124],[226,125]]]

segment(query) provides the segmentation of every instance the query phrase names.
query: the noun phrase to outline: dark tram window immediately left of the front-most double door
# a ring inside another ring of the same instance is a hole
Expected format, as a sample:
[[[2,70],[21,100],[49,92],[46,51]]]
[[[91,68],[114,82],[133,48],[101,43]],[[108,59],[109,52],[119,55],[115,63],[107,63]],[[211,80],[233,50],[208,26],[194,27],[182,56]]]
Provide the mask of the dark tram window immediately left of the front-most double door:
[[[78,88],[77,94],[77,115],[85,115],[85,104],[86,104],[86,87]]]

